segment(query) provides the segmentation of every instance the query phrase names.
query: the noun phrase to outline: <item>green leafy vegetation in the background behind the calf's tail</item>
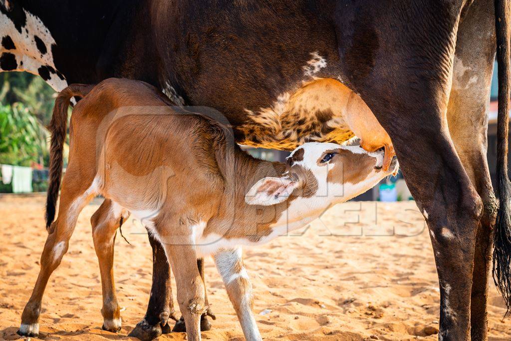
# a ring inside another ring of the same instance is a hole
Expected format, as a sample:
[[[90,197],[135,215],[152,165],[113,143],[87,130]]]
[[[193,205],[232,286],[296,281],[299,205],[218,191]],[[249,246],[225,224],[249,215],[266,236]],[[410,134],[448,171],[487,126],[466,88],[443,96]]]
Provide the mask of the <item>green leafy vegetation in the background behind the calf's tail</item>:
[[[0,73],[0,163],[48,166],[54,90],[40,77]]]

